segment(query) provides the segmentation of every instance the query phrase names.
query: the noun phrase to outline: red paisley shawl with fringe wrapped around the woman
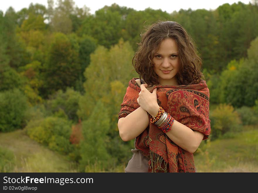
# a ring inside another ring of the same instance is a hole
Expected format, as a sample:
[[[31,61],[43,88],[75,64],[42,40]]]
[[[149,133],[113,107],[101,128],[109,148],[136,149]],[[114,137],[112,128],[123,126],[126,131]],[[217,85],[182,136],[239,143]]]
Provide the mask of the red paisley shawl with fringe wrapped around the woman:
[[[135,79],[129,81],[118,118],[126,117],[140,107],[137,103],[141,91]],[[206,81],[178,86],[155,86],[157,102],[175,120],[204,134],[208,139],[211,127],[209,119],[209,89]],[[150,118],[150,114],[149,118]],[[172,126],[173,129],[173,126]],[[193,154],[177,146],[155,124],[136,137],[135,147],[149,160],[148,172],[196,172]]]

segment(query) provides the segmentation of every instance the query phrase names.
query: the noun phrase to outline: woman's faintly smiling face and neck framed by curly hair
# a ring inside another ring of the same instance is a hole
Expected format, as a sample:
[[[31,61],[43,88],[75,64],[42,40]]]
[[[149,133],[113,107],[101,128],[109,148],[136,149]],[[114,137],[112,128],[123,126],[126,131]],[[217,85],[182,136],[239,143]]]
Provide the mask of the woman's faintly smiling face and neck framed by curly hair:
[[[154,71],[159,76],[160,85],[178,85],[176,74],[179,71],[177,43],[172,38],[162,40],[152,59]]]

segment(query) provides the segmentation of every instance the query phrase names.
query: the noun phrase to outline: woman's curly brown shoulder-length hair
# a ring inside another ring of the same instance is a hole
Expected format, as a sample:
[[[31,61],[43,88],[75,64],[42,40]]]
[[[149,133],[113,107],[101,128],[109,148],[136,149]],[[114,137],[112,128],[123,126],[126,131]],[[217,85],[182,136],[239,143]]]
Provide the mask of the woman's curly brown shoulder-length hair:
[[[158,75],[154,71],[155,52],[162,40],[173,38],[176,40],[179,54],[179,72],[176,74],[179,85],[197,84],[203,79],[201,72],[202,61],[197,55],[197,49],[186,30],[175,21],[157,21],[141,35],[138,50],[133,57],[135,71],[148,86],[158,85]]]

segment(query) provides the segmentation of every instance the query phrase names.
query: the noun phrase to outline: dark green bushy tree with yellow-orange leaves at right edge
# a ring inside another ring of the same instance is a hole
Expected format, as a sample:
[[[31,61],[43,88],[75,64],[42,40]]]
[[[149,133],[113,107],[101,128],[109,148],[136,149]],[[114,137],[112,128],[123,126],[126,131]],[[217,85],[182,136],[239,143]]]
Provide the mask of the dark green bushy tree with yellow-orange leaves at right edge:
[[[258,95],[258,38],[247,50],[248,58],[232,60],[220,76],[220,103],[252,107]]]

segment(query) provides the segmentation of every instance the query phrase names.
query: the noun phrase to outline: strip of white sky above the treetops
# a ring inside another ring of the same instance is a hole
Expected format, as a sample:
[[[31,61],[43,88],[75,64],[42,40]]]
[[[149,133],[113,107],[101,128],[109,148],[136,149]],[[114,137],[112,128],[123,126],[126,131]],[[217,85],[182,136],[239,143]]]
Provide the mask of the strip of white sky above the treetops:
[[[252,0],[239,0],[244,4],[249,4],[249,1]],[[56,3],[57,0],[54,0]],[[143,1],[143,0],[91,0],[91,1],[82,1],[82,0],[74,0],[75,5],[79,8],[82,8],[84,5],[90,8],[90,13],[94,14],[98,9],[103,8],[105,5],[111,6],[111,4],[116,3],[119,6],[126,6],[128,8],[133,8],[137,11],[145,10],[145,8],[152,9],[161,9],[162,11],[167,11],[168,13],[172,13],[173,11],[179,11],[182,9],[191,8],[192,10],[196,9],[207,9],[214,10],[218,6],[229,3],[230,5],[233,3],[237,3],[238,0],[155,0],[155,1]],[[47,7],[47,0],[0,0],[0,10],[4,13],[6,10],[12,6],[14,10],[20,11],[22,8],[28,8],[30,3],[39,3],[43,4]]]

